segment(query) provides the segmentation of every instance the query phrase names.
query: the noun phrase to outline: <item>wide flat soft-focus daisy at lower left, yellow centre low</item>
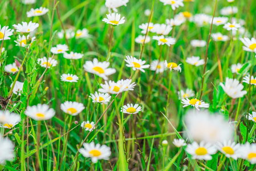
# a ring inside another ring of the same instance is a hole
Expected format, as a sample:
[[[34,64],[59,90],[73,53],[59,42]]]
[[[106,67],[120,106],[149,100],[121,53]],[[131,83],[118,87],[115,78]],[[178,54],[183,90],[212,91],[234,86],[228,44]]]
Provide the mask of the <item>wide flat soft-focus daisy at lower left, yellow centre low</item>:
[[[49,108],[47,104],[33,105],[32,107],[27,107],[25,115],[31,117],[34,120],[48,120],[54,117],[55,111]]]

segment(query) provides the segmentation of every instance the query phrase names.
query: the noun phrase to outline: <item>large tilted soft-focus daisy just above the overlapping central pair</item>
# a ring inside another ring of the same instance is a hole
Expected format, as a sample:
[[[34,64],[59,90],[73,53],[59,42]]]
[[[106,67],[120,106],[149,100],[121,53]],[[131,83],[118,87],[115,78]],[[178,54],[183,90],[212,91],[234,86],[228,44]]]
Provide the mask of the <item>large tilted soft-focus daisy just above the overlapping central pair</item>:
[[[99,62],[97,58],[94,58],[92,61],[87,60],[87,62],[83,65],[84,70],[92,74],[96,74],[104,80],[108,80],[107,76],[116,72],[115,68],[107,68],[108,66],[109,62]]]

